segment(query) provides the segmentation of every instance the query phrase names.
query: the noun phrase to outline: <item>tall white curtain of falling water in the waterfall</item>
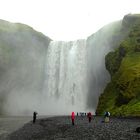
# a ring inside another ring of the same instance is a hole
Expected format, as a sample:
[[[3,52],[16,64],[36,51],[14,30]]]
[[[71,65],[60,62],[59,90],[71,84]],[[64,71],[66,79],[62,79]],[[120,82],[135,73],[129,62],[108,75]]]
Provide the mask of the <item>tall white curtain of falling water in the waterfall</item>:
[[[84,111],[87,100],[86,40],[52,41],[46,56],[43,97],[55,113]]]

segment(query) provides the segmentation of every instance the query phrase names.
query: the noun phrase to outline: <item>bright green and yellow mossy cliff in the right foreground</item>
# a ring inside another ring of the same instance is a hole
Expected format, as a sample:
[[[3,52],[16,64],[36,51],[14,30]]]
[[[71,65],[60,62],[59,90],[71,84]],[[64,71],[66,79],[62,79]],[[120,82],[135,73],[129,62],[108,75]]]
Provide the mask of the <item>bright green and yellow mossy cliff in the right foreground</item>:
[[[121,30],[128,35],[105,58],[111,82],[99,98],[97,113],[140,116],[140,15],[126,15]]]

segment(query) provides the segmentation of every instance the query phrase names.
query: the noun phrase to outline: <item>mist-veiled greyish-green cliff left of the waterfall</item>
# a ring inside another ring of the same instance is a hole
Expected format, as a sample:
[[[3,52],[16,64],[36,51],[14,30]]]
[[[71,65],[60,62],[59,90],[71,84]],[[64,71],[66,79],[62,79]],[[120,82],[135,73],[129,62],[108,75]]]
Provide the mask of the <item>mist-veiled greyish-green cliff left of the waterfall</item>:
[[[23,94],[34,98],[40,92],[49,42],[27,25],[0,20],[0,113],[7,113],[4,108],[10,110],[8,100],[15,102],[16,108]]]

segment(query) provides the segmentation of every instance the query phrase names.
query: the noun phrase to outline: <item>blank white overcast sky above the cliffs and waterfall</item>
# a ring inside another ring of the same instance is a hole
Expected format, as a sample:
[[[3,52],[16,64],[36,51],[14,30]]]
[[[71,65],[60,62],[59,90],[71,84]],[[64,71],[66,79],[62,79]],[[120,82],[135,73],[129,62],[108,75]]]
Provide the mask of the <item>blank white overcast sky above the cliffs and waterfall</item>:
[[[53,40],[86,38],[125,14],[139,0],[0,0],[0,19],[32,26]]]

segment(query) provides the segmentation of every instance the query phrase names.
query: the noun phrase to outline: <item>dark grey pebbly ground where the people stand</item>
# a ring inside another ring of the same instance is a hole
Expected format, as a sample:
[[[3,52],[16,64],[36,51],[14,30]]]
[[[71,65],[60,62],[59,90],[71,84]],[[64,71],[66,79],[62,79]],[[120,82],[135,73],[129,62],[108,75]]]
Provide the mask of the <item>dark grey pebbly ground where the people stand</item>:
[[[71,125],[69,116],[38,119],[29,122],[19,130],[1,137],[2,140],[140,140],[136,127],[140,118],[111,118],[109,123],[94,117],[88,123],[87,117],[76,117]]]

